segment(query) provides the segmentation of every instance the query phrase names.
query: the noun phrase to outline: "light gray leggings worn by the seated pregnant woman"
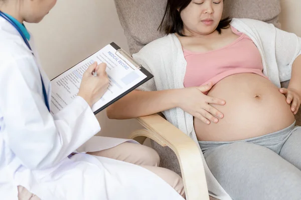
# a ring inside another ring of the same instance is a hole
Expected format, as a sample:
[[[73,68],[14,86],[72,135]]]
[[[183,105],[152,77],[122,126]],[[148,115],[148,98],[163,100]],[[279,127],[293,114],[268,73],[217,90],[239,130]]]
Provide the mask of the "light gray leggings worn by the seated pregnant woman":
[[[234,200],[301,199],[301,127],[250,139],[199,141],[206,162]]]

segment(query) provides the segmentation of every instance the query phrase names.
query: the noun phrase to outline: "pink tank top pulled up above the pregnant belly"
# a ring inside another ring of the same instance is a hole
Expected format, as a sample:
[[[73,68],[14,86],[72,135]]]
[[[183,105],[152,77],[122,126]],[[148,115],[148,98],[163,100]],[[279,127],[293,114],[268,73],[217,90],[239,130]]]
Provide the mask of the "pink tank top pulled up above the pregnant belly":
[[[187,61],[184,86],[200,86],[237,73],[262,73],[261,55],[250,37],[231,26],[232,31],[239,35],[232,43],[205,53],[183,49]],[[206,92],[207,93],[207,92]]]

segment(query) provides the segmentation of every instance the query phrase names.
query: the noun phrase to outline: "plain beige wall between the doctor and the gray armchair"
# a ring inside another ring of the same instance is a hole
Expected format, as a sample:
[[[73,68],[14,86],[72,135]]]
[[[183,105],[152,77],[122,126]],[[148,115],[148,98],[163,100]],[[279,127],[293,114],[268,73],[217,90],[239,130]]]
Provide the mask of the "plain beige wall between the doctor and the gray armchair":
[[[128,51],[113,0],[58,0],[39,24],[26,24],[35,36],[41,62],[53,78],[114,41]],[[109,120],[97,114],[101,135],[123,137],[141,128],[135,119]]]

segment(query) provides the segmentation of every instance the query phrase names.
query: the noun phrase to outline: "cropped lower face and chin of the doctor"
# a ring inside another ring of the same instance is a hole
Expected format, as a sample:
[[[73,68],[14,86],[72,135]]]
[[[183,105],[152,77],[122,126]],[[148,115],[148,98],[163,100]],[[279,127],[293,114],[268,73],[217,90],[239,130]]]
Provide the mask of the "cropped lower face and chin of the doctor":
[[[24,20],[30,23],[40,22],[53,8],[57,0],[22,0]]]

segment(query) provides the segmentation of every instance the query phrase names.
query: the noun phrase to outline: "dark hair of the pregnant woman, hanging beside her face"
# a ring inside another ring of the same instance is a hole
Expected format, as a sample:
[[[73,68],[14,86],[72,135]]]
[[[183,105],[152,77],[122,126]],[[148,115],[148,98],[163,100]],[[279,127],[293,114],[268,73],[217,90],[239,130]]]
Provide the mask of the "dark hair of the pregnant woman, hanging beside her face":
[[[191,0],[167,0],[165,13],[158,30],[164,31],[166,34],[176,32],[181,36],[185,36],[183,34],[184,24],[181,18],[181,12],[190,2]],[[222,19],[216,28],[218,33],[221,34],[222,28],[228,28],[230,22],[230,17]]]

